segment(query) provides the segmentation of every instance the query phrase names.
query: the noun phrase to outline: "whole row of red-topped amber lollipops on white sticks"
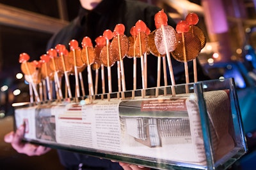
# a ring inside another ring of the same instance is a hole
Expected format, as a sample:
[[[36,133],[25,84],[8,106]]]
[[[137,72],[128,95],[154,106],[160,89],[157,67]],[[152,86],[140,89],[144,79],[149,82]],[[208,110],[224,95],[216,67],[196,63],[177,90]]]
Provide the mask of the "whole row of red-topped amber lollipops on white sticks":
[[[80,91],[85,96],[82,72],[87,69],[88,74],[88,91],[90,99],[97,94],[99,71],[102,72],[102,94],[105,90],[104,69],[108,71],[108,99],[112,93],[111,85],[111,66],[117,64],[118,73],[118,97],[119,92],[124,98],[125,87],[125,73],[124,73],[124,57],[133,58],[133,90],[136,90],[136,76],[137,58],[141,62],[141,80],[142,93],[145,96],[145,89],[147,88],[147,55],[152,53],[158,57],[157,63],[157,87],[160,86],[160,71],[161,59],[163,59],[164,70],[164,85],[167,85],[166,77],[166,57],[170,71],[170,79],[172,85],[175,85],[175,78],[173,75],[172,61],[170,53],[174,59],[184,62],[184,69],[186,73],[186,83],[189,83],[188,78],[188,61],[194,60],[194,80],[196,78],[196,57],[200,50],[205,45],[205,36],[201,29],[196,27],[198,17],[195,13],[190,13],[186,20],[182,20],[177,24],[176,30],[167,24],[168,17],[163,10],[155,15],[156,30],[150,32],[147,25],[138,20],[134,27],[131,28],[131,36],[127,37],[124,34],[125,26],[117,24],[114,31],[106,30],[102,36],[95,39],[96,45],[93,47],[92,41],[88,37],[84,37],[81,43],[82,48],[79,47],[78,42],[72,39],[69,43],[70,50],[68,51],[64,45],[56,45],[55,48],[48,50],[48,52],[40,57],[40,61],[28,62],[29,55],[27,53],[20,54],[20,63],[22,72],[26,75],[26,80],[29,82],[31,92],[35,96],[36,101],[42,101],[44,96],[48,96],[52,100],[52,87],[55,85],[57,99],[63,99],[61,90],[61,80],[63,76],[65,79],[65,88],[67,90],[65,97],[74,97],[70,89],[69,76],[74,75],[76,80],[76,94],[75,97],[80,97]],[[92,69],[95,71],[95,86],[93,87]],[[42,83],[44,82],[44,83]],[[54,82],[54,83],[52,83]],[[38,94],[37,89],[44,87],[45,90],[40,90]],[[81,87],[81,90],[80,88]],[[173,86],[172,86],[173,87]],[[47,89],[47,90],[46,90]],[[46,92],[47,91],[47,92]],[[158,94],[158,92],[156,93]],[[175,89],[172,88],[172,94],[175,96]],[[134,97],[134,93],[132,93]],[[32,100],[31,100],[32,101]]]

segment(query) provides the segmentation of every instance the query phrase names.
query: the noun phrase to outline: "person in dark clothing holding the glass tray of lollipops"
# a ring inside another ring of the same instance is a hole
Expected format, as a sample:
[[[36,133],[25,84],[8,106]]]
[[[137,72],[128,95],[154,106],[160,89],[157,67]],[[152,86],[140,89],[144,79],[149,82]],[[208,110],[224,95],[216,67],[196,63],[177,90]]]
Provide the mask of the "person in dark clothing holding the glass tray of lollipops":
[[[96,39],[101,36],[106,29],[114,30],[116,24],[125,25],[125,35],[130,36],[130,29],[135,25],[138,20],[143,20],[147,24],[150,31],[156,29],[154,22],[154,15],[161,9],[156,6],[152,6],[147,3],[132,0],[80,0],[81,9],[79,15],[72,21],[67,27],[61,29],[60,32],[52,36],[47,49],[54,48],[58,44],[63,44],[69,49],[68,43],[72,39],[76,39],[81,45],[81,41],[85,36],[92,39]],[[175,22],[172,18],[168,17],[168,25],[175,28]],[[94,43],[94,41],[93,41]],[[131,60],[131,59],[130,59]],[[148,84],[147,87],[156,87],[157,77],[157,57],[148,57]],[[132,62],[125,63],[125,78],[132,80]],[[184,64],[172,59],[173,72],[175,74],[175,80],[177,83],[184,83]],[[190,66],[191,63],[189,62]],[[115,64],[116,65],[116,64]],[[199,65],[199,64],[198,64]],[[113,66],[116,67],[116,66]],[[130,70],[129,70],[130,69]],[[198,69],[201,69],[198,66]],[[116,70],[116,68],[113,68]],[[193,71],[191,71],[193,73]],[[127,74],[126,74],[127,73]],[[130,73],[130,74],[128,74]],[[207,77],[203,74],[203,71],[198,71],[198,80],[205,80]],[[84,74],[84,76],[87,76]],[[128,77],[126,77],[128,76]],[[87,78],[84,78],[87,80]],[[113,78],[116,81],[117,78]],[[138,79],[138,81],[141,81]],[[170,80],[169,80],[170,81]],[[117,84],[117,83],[115,83]],[[139,83],[138,83],[139,84]],[[169,83],[170,84],[170,83]],[[99,85],[100,87],[100,85]],[[117,86],[113,86],[113,91],[118,91]],[[132,90],[131,81],[127,81],[127,90]],[[141,87],[138,87],[140,89]],[[99,88],[100,93],[100,88]],[[33,145],[31,143],[22,142],[24,136],[24,126],[22,125],[16,132],[10,132],[6,134],[4,140],[7,143],[11,143],[13,148],[19,153],[25,153],[29,156],[42,155],[49,152],[50,148],[44,146]],[[68,152],[65,150],[58,150],[60,162],[65,169],[104,169],[104,170],[138,170],[138,169],[150,169],[148,167],[141,167],[132,164],[126,164],[124,162],[112,162],[111,160],[99,159],[96,157],[90,157],[81,153]]]

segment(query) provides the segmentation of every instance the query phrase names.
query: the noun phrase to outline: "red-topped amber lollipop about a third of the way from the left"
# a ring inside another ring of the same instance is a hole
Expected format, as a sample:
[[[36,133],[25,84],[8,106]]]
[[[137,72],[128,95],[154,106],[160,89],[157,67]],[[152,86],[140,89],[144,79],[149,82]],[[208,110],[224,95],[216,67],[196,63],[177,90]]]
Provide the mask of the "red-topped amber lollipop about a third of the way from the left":
[[[92,68],[91,65],[94,62],[95,59],[95,50],[92,46],[92,41],[89,37],[84,37],[82,41],[82,53],[81,57],[87,66],[87,72],[88,72],[88,86],[89,86],[89,94],[90,97],[94,96],[94,90],[93,90],[93,81],[92,81]]]

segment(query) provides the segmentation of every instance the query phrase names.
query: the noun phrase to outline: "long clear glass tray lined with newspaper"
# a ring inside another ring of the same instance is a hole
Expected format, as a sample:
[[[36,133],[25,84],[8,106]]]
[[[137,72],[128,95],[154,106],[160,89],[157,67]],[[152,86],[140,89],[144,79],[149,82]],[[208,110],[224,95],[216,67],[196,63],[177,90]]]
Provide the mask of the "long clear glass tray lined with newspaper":
[[[234,80],[16,103],[25,141],[156,169],[227,169],[247,152]]]

